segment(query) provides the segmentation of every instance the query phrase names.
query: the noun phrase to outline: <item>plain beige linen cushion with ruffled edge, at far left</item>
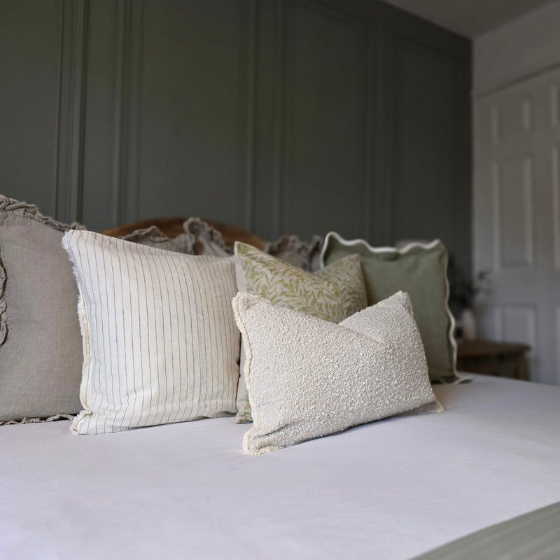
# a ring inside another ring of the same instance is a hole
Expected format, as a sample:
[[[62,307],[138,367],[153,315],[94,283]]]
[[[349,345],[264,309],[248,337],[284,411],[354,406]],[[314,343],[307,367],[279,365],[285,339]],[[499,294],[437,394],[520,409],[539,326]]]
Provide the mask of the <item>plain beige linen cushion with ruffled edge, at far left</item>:
[[[0,195],[0,423],[77,414],[82,342],[66,225]]]

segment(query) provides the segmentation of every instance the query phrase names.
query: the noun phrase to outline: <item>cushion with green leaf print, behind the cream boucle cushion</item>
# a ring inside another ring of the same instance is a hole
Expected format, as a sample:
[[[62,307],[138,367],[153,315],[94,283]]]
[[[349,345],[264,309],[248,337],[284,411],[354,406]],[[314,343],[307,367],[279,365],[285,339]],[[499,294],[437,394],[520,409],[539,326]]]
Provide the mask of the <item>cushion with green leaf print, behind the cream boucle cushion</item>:
[[[235,244],[239,291],[256,293],[274,305],[297,309],[339,323],[367,305],[360,260],[349,256],[311,274],[244,243]],[[241,376],[237,388],[238,423],[252,421],[243,370],[245,346],[241,344]]]

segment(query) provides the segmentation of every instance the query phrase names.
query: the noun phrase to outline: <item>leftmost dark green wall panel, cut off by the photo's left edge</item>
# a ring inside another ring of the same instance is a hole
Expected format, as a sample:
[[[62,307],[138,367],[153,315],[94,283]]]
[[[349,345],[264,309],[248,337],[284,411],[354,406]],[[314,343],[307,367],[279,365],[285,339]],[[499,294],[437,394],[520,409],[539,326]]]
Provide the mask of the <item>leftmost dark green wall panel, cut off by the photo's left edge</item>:
[[[0,174],[8,196],[55,214],[64,3],[0,0]]]

